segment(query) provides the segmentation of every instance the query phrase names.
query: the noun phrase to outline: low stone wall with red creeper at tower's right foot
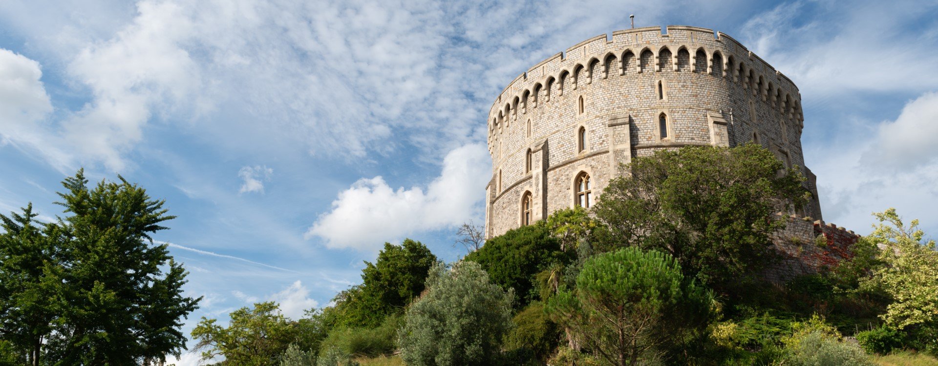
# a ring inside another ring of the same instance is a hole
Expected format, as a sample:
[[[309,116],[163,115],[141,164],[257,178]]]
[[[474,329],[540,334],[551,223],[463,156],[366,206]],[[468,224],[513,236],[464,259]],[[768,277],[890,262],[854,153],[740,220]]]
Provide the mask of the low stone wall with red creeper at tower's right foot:
[[[787,219],[786,227],[772,236],[781,261],[764,272],[766,280],[784,283],[799,275],[836,267],[841,260],[854,256],[851,249],[860,239],[854,231],[822,220]]]

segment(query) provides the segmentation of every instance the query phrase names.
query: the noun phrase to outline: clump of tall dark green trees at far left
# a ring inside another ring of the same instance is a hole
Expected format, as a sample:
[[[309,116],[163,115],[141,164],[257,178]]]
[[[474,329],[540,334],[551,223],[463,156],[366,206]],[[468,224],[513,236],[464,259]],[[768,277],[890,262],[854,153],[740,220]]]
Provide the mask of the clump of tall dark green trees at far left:
[[[66,178],[56,203],[68,215],[41,230],[31,207],[0,217],[0,323],[31,360],[141,364],[186,347],[181,318],[199,299],[182,295],[188,273],[151,239],[174,216],[118,178]]]

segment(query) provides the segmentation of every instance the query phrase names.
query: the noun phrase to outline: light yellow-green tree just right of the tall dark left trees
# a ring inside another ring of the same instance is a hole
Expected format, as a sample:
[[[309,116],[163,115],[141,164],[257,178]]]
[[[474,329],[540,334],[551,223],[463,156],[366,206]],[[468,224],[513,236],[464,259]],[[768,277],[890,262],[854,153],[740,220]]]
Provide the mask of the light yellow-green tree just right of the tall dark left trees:
[[[198,341],[193,351],[201,351],[203,361],[221,356],[234,365],[277,365],[296,334],[295,323],[280,314],[276,302],[258,302],[253,309],[231,313],[227,328],[203,317],[192,329],[192,339]]]

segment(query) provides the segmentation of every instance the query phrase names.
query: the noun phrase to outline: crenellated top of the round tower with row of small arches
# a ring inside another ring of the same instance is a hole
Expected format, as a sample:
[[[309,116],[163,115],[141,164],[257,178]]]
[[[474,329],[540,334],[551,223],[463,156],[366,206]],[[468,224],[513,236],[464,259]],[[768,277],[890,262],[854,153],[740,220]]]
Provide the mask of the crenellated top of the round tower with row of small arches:
[[[662,61],[662,56],[670,59]],[[777,103],[780,111],[798,122],[804,119],[794,82],[733,37],[706,28],[668,25],[592,37],[531,66],[495,99],[488,118],[490,134],[501,119],[518,113],[519,108],[526,110],[529,98],[533,97],[532,106],[537,108],[538,101],[563,95],[568,80],[572,81],[569,88],[577,89],[578,83],[605,80],[613,73],[678,71],[681,62],[689,62],[690,72],[734,81],[753,95]]]

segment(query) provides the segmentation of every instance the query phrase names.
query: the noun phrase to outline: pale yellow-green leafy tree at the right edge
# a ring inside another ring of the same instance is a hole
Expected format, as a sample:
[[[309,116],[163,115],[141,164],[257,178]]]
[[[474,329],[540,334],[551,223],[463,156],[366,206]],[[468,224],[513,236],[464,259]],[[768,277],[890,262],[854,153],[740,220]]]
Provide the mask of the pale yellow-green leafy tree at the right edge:
[[[938,252],[933,240],[925,241],[918,220],[904,226],[896,209],[874,212],[880,224],[860,239],[882,250],[882,266],[873,270],[866,286],[882,289],[892,303],[883,318],[893,329],[938,328]]]

